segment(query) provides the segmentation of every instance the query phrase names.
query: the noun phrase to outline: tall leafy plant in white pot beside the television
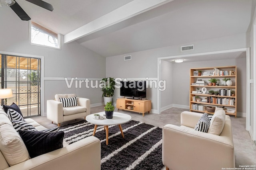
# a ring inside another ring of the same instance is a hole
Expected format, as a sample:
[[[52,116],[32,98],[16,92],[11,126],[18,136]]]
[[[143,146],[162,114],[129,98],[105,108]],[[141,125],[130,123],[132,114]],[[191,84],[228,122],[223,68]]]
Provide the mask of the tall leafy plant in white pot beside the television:
[[[116,82],[114,78],[108,77],[102,78],[100,83],[102,84],[102,96],[104,97],[104,104],[106,105],[108,102],[112,102]]]

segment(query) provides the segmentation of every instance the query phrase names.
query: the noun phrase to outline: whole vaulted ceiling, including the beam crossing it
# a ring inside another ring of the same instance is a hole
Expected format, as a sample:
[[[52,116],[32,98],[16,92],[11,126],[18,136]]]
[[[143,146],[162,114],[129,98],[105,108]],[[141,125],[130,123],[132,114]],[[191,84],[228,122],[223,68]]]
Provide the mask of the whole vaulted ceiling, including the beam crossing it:
[[[44,0],[50,12],[16,1],[65,43],[104,57],[246,33],[255,8],[255,0]]]

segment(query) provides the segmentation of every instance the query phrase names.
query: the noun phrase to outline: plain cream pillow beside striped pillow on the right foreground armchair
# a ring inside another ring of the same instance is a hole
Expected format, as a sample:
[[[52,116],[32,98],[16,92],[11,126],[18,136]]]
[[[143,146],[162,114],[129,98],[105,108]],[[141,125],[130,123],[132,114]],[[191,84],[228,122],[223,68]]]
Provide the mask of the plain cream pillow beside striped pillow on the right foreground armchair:
[[[223,109],[217,110],[212,116],[208,133],[220,135],[225,124],[226,113]]]

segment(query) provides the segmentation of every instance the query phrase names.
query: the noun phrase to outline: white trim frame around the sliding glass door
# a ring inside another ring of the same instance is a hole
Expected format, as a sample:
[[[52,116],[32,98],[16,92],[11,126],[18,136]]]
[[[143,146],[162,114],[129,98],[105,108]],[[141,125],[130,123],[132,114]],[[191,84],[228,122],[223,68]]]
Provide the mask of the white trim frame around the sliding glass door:
[[[4,55],[14,55],[19,57],[32,57],[41,59],[41,115],[44,116],[44,56],[41,55],[30,55],[30,54],[22,54],[22,53],[11,53],[6,51],[0,51],[0,54]]]

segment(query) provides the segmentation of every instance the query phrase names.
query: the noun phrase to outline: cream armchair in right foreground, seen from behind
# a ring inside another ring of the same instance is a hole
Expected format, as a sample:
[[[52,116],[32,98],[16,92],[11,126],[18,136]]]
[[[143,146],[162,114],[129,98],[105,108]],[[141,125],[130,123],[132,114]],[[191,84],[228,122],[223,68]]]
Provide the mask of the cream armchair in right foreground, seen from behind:
[[[214,135],[194,130],[201,116],[202,113],[184,111],[181,113],[181,126],[168,124],[163,127],[162,161],[166,170],[235,167],[230,117],[224,115],[223,130],[220,135]]]

